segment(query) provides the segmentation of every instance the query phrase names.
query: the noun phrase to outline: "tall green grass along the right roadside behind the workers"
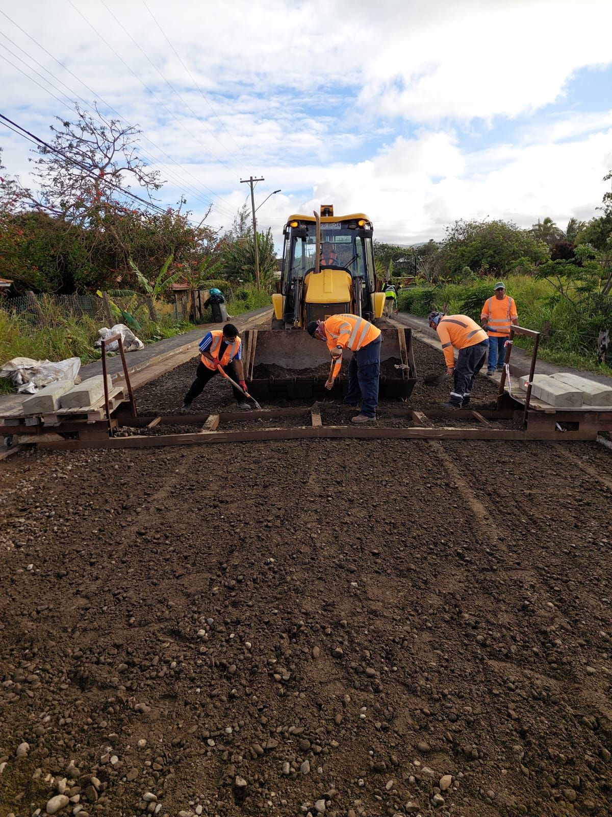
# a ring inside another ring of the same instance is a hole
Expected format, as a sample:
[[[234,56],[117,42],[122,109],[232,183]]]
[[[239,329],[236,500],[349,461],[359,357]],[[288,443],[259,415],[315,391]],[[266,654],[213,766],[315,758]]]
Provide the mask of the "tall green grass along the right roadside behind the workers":
[[[481,308],[493,294],[494,279],[477,279],[468,283],[445,283],[436,287],[413,287],[402,290],[398,308],[413,315],[428,315],[447,304],[450,315],[469,315],[480,324]],[[530,275],[509,275],[505,279],[508,295],[517,302],[519,324],[544,332],[548,322],[550,339],[540,339],[538,356],[549,363],[583,368],[590,372],[612,375],[610,365],[598,364],[592,326],[568,301],[555,297],[551,283]],[[533,341],[517,337],[517,346],[530,350]]]

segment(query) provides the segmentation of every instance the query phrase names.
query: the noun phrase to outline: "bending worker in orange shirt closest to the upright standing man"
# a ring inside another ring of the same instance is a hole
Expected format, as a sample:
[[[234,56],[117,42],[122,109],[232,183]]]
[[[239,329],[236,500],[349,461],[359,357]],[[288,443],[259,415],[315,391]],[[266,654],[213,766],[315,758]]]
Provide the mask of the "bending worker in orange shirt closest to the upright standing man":
[[[450,400],[444,404],[444,408],[466,407],[472,397],[477,373],[485,363],[489,337],[475,320],[468,318],[468,315],[442,315],[441,312],[430,312],[428,323],[440,338],[446,359],[446,373],[455,376]],[[456,364],[454,348],[459,349]]]

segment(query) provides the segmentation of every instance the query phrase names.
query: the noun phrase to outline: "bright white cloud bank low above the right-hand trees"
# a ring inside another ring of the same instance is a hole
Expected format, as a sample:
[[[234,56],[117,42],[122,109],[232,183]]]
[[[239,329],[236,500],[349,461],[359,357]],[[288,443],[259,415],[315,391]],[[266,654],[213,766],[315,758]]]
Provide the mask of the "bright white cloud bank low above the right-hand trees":
[[[416,169],[413,157],[435,158],[432,145],[446,146],[440,162],[431,161],[427,172]],[[365,211],[379,239],[400,243],[441,239],[445,225],[459,217],[502,218],[522,227],[546,216],[560,224],[590,217],[612,167],[612,128],[581,141],[544,137],[513,151],[503,147],[498,166],[491,154],[461,153],[444,133],[399,138],[368,162],[330,168],[315,182],[304,211],[323,199],[335,203],[336,212]]]

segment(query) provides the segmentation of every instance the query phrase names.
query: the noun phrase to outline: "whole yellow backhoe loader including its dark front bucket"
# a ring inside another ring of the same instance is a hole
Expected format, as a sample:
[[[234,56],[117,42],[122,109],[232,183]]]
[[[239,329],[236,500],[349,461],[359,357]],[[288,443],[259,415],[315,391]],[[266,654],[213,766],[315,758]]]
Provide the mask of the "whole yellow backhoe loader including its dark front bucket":
[[[379,394],[410,395],[416,382],[411,331],[380,321],[384,292],[376,292],[372,235],[372,223],[364,213],[335,217],[332,205],[323,205],[320,214],[287,219],[271,329],[251,329],[245,337],[246,381],[252,394],[329,395],[324,389],[329,373],[326,347],[304,328],[311,320],[350,313],[382,324]],[[344,356],[350,358],[350,352]],[[331,394],[346,386],[343,367]]]

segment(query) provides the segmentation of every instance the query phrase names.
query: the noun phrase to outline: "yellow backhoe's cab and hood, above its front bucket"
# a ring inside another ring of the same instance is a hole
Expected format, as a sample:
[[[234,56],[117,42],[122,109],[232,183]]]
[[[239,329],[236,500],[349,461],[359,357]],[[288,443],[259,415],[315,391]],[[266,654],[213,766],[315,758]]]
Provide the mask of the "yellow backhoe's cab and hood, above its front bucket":
[[[372,224],[363,213],[290,216],[283,228],[280,292],[273,295],[273,329],[304,328],[311,320],[350,313],[375,321],[384,293],[375,292]]]

